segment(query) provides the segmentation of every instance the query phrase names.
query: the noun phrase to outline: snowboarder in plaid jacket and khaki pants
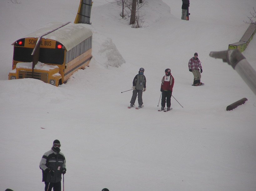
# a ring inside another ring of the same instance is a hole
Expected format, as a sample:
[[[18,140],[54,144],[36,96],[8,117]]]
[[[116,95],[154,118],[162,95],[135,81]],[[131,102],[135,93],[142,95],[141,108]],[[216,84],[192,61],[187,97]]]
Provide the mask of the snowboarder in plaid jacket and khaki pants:
[[[193,85],[202,85],[203,83],[200,81],[200,79],[203,69],[197,53],[195,53],[194,57],[190,58],[190,60],[188,61],[188,70],[189,72],[192,72],[194,75]]]

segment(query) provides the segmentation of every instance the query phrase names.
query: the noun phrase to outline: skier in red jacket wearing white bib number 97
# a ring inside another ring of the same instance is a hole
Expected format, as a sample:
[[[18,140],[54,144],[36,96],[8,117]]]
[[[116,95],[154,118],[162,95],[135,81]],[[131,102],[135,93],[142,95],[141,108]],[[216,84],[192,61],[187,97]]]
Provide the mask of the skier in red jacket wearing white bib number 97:
[[[162,92],[161,110],[164,109],[165,103],[167,105],[167,111],[170,110],[173,85],[174,85],[174,78],[171,74],[171,69],[167,68],[165,70],[165,76],[162,78],[161,89],[160,89],[160,91]]]

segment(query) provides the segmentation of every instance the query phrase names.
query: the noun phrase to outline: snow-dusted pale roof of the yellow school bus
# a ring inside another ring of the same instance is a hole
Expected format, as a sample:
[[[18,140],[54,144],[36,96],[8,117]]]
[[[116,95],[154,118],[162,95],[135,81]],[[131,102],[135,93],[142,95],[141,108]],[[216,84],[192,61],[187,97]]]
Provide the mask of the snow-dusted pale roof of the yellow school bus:
[[[29,37],[38,38],[44,35],[45,33],[62,26],[63,24],[64,23],[61,23],[61,22],[48,23],[46,26],[39,28],[38,30],[26,35],[23,38],[29,38]],[[88,29],[86,25],[87,24],[82,24],[82,23],[81,24],[69,23],[51,32],[50,34],[43,36],[42,38],[56,40],[61,44],[63,44],[68,51],[93,35],[92,31]]]

